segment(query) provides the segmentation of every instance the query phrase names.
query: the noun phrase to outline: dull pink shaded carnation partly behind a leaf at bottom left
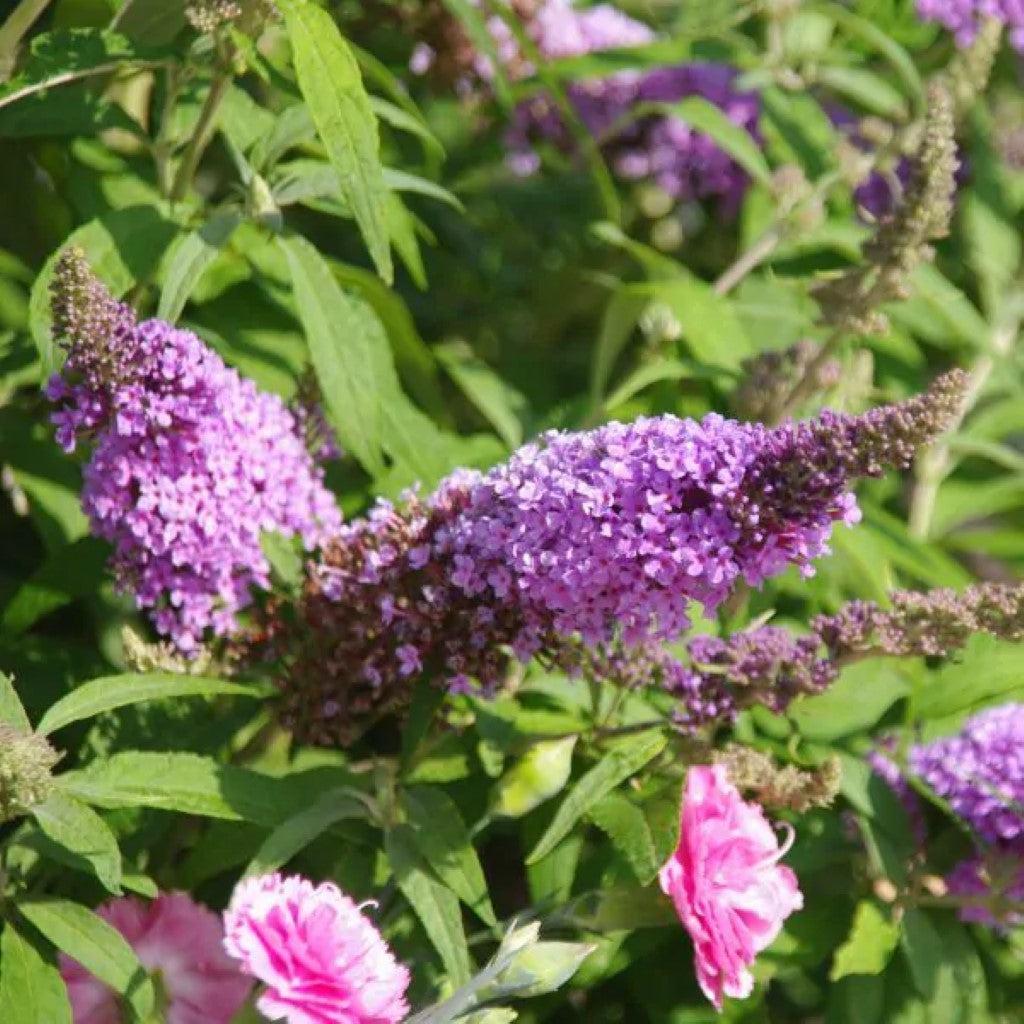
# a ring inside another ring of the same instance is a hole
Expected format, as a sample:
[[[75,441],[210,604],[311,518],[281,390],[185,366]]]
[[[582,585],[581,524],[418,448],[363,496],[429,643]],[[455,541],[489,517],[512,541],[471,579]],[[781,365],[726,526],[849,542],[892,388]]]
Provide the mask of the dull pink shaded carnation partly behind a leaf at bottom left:
[[[153,902],[124,897],[96,912],[135,950],[142,966],[159,974],[167,1024],[228,1024],[252,989],[224,953],[223,930],[212,910],[184,893],[163,893]],[[122,1024],[124,1008],[113,988],[61,953],[75,1024]]]

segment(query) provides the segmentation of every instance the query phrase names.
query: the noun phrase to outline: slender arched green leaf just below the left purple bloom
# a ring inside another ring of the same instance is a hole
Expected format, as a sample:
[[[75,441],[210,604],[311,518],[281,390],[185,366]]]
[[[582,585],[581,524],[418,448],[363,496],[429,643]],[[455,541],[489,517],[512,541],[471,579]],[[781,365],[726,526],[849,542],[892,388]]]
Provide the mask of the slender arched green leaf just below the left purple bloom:
[[[220,679],[203,676],[180,676],[173,673],[127,674],[104,676],[76,687],[61,697],[43,716],[38,731],[48,736],[72,722],[93,718],[105,711],[125,708],[144,700],[164,700],[169,697],[233,696],[259,697],[262,694],[251,686],[225,683]]]

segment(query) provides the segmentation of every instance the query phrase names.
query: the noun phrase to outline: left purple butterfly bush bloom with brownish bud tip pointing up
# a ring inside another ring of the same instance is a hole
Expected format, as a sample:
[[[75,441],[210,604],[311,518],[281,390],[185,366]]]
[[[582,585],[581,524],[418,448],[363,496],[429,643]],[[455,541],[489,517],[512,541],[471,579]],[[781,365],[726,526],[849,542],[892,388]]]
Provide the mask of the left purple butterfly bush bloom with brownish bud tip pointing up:
[[[61,254],[53,296],[68,349],[53,422],[67,451],[91,445],[82,505],[120,586],[182,651],[230,634],[269,587],[262,531],[312,548],[340,527],[302,424],[194,334],[136,323],[80,251]]]

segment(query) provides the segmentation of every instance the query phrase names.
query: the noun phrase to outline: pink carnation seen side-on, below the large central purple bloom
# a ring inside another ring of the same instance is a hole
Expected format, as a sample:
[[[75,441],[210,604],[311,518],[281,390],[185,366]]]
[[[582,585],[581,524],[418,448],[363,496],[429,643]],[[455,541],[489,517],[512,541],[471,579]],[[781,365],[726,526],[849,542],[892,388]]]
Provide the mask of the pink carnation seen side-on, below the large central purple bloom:
[[[754,989],[748,970],[804,905],[797,877],[757,804],[744,803],[725,768],[698,766],[686,776],[679,846],[658,876],[693,939],[697,981],[722,1009],[722,996]]]

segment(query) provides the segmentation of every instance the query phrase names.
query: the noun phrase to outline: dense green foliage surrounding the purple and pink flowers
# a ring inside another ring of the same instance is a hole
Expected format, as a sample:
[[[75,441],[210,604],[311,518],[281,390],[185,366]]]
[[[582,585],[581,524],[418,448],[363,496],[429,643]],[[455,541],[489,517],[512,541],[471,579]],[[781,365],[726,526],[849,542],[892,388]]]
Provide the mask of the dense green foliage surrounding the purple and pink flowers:
[[[633,730],[656,699],[535,664],[496,700],[449,698],[443,715],[424,685],[408,717],[318,750],[275,726],[258,669],[232,676],[215,656],[182,675],[153,655],[143,671],[124,631],[137,646],[148,624],[115,592],[81,510],[81,458],[53,443],[41,393],[61,357],[49,285],[69,244],[117,295],[195,331],[262,388],[290,399],[311,368],[345,452],[328,482],[348,518],[415,481],[429,492],[456,467],[494,465],[548,427],[745,418],[752,357],[828,339],[839,372],[770,412],[860,412],[963,367],[974,387],[962,422],[913,471],[858,486],[863,520],[837,527],[815,575],[744,589],[696,631],[772,616],[799,632],[896,588],[1014,581],[1019,56],[1002,47],[984,92],[957,104],[964,170],[934,260],[909,270],[882,330],[837,335],[818,289],[865,260],[873,231],[851,164],[891,170],[920,135],[929,82],[951,61],[963,82],[952,41],[911,3],[624,3],[671,45],[544,69],[556,92],[610,67],[740,69],[761,91],[763,144],[691,108],[750,174],[734,216],[623,182],[586,142],[583,157],[545,153],[537,174],[513,174],[504,125],[537,80],[466,99],[412,75],[425,5],[279,6],[258,39],[241,24],[197,32],[177,0],[26,2],[23,15],[40,10],[31,28],[10,31],[12,15],[0,29],[0,721],[27,715],[61,752],[53,793],[0,824],[0,1021],[70,1021],[54,948],[151,1020],[134,954],[86,908],[158,889],[220,908],[247,865],[285,864],[380,900],[417,1008],[467,982],[518,916],[595,947],[557,991],[561,976],[509,996],[527,1024],[1024,1019],[1022,933],[962,924],[935,886],[969,852],[965,829],[923,790],[931,839],[916,853],[864,762],[880,737],[902,756],[980,708],[1024,700],[1019,647],[976,637],[949,657],[863,659],[784,715],[740,715],[731,738],[780,766],[838,758],[842,779],[830,808],[780,812],[805,908],[759,958],[771,984],[718,1018],[654,882],[685,766],[707,752],[670,728]],[[834,106],[872,118],[881,148],[853,151]],[[296,552],[271,558],[287,595]],[[580,950],[559,950],[567,976]]]

